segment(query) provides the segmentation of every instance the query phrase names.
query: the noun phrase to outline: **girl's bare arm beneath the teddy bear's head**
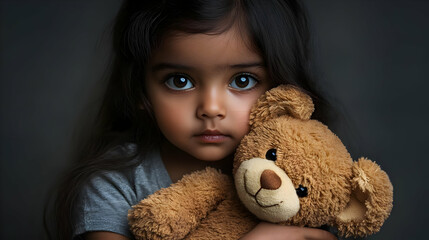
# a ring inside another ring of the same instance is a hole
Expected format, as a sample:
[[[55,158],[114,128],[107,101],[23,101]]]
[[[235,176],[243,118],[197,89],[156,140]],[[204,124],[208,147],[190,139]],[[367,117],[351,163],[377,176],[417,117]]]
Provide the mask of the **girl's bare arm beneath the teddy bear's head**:
[[[332,233],[316,229],[295,226],[281,226],[273,223],[261,222],[252,231],[247,233],[241,240],[259,240],[259,239],[337,239]]]

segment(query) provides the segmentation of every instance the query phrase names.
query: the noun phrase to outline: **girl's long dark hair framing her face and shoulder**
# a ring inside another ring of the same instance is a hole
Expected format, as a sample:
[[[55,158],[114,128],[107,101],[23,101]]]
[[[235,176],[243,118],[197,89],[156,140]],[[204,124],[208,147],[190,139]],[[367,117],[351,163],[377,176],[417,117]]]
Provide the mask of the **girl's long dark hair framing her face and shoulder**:
[[[159,144],[162,136],[146,99],[144,72],[165,34],[220,34],[235,24],[265,61],[273,86],[288,83],[305,90],[315,102],[314,117],[325,120],[326,104],[311,72],[306,11],[297,0],[125,1],[113,29],[114,59],[107,89],[92,135],[59,188],[51,237],[71,238],[73,206],[80,187],[93,174],[135,166],[137,155]],[[106,155],[126,143],[136,143],[135,151]]]

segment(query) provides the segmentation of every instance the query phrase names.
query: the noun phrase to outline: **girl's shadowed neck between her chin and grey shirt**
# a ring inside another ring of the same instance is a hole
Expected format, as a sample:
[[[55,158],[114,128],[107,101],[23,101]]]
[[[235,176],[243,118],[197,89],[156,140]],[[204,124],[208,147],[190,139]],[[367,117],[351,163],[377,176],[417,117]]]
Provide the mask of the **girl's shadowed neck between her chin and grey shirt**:
[[[222,173],[231,174],[232,158],[231,155],[219,161],[203,161],[192,157],[166,140],[161,144],[161,159],[173,183],[180,180],[185,174],[206,167],[221,169]]]

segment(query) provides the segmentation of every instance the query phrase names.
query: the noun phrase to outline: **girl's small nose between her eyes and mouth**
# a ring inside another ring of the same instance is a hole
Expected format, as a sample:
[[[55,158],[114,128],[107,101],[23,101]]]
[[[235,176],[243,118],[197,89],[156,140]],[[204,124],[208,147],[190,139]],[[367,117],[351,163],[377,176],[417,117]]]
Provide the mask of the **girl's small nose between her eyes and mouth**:
[[[217,89],[204,91],[197,109],[199,118],[224,118],[226,115],[225,96]]]

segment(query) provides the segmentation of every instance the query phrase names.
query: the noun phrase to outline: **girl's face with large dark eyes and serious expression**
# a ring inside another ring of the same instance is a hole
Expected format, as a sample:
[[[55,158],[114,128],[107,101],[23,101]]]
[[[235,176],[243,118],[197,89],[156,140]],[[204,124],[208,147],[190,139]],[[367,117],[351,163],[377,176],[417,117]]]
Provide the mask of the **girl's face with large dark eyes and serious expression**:
[[[249,130],[250,108],[270,86],[262,58],[233,29],[166,37],[146,71],[157,124],[173,145],[216,161]]]

